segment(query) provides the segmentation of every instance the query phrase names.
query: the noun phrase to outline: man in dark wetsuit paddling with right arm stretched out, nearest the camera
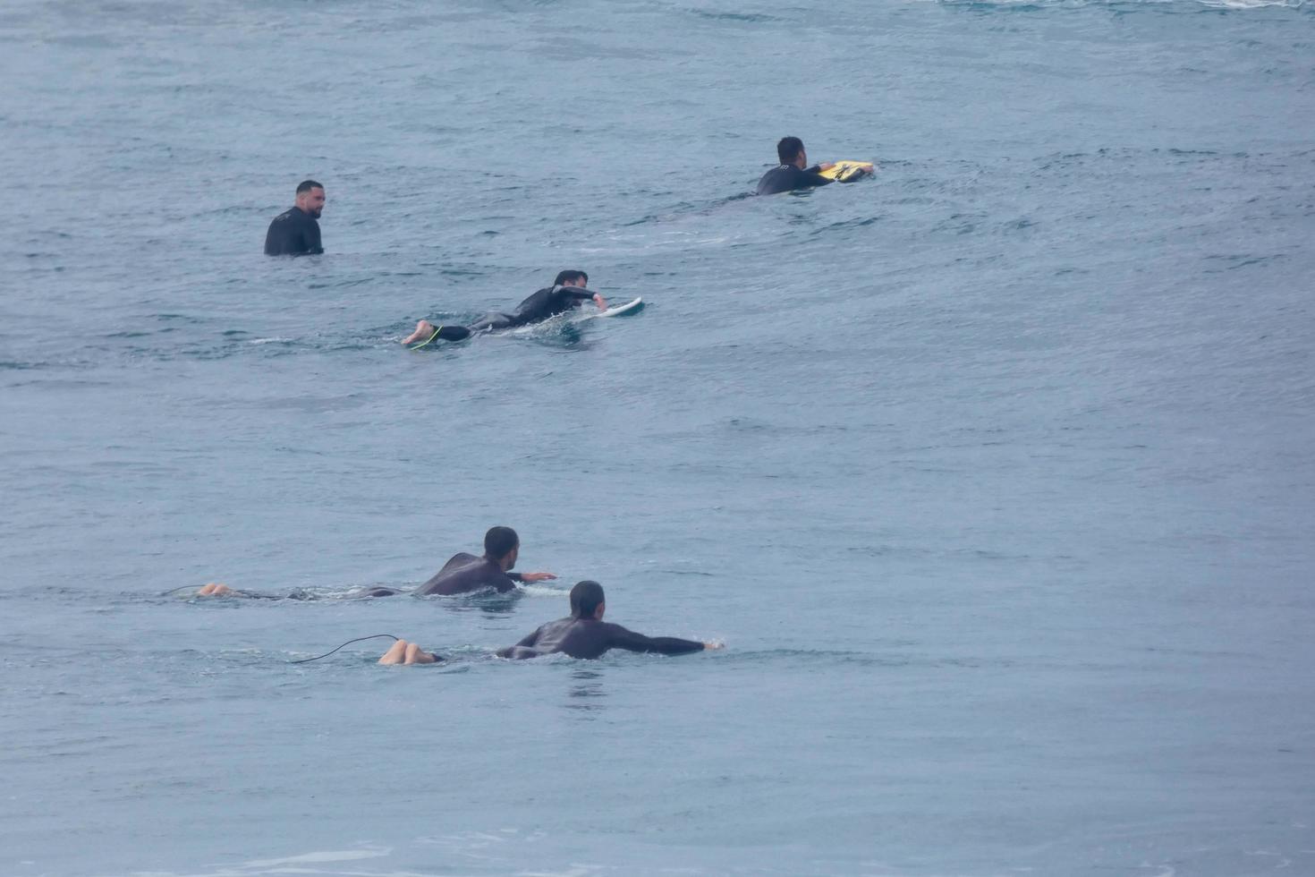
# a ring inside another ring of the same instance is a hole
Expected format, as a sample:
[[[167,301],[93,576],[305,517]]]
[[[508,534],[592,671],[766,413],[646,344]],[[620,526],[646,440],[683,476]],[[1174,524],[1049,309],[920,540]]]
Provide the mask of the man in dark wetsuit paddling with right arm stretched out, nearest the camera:
[[[601,657],[608,650],[658,655],[686,655],[704,650],[722,648],[722,643],[701,643],[677,636],[644,636],[621,625],[602,621],[608,604],[602,585],[581,581],[571,589],[571,614],[543,625],[515,646],[500,648],[498,657],[538,657],[558,652],[571,657]],[[416,643],[400,639],[379,659],[380,664],[433,664],[437,657]]]

